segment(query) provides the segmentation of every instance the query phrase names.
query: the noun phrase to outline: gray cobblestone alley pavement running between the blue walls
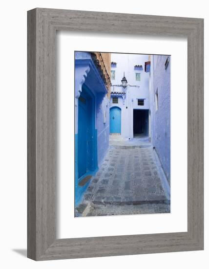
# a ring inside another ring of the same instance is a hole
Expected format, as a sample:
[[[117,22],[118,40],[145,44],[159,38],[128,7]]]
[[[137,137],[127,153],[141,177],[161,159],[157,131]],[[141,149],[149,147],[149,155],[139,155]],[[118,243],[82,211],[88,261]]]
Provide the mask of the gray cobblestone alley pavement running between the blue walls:
[[[170,212],[152,147],[110,146],[91,179],[78,216]]]

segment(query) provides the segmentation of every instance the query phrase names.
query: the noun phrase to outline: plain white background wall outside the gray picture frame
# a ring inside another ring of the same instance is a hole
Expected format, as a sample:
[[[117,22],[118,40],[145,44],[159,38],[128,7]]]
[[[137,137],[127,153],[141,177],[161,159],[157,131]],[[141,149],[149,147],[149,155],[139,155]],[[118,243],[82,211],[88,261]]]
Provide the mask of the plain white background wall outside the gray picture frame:
[[[205,48],[209,47],[209,12],[205,0],[149,0],[126,4],[106,0],[7,0],[1,3],[1,98],[0,98],[0,205],[1,268],[21,269],[206,269],[209,256],[209,229],[205,229],[205,250],[130,255],[76,260],[34,262],[26,253],[26,11],[34,7],[79,9],[104,12],[205,18]],[[181,8],[179,8],[181,7]],[[8,11],[8,12],[7,12]],[[8,19],[9,16],[9,19]],[[6,22],[6,23],[5,23]],[[137,25],[136,25],[137,27]],[[15,49],[14,49],[15,45]],[[209,103],[209,50],[205,49],[205,102]],[[209,107],[205,106],[205,134],[209,136]],[[205,163],[209,163],[209,139],[205,140]],[[205,167],[205,178],[209,168]],[[205,180],[205,193],[209,180]],[[209,196],[205,195],[205,227],[209,226]],[[178,220],[177,220],[178,221]],[[140,224],[139,224],[140,225]]]

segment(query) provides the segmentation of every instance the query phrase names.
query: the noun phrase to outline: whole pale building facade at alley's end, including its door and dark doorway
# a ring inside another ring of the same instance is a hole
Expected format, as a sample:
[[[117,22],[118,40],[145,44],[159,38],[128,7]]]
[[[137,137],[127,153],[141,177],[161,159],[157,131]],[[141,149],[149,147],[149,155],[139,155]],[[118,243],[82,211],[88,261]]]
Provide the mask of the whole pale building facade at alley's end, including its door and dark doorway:
[[[121,134],[127,139],[150,136],[148,60],[143,54],[111,54],[111,135]]]

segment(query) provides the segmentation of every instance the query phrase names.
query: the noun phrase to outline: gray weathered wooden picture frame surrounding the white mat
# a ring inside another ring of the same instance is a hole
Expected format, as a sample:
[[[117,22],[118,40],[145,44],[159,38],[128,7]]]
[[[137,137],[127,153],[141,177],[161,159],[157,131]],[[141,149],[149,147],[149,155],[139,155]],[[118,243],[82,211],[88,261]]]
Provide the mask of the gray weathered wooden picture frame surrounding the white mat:
[[[202,250],[203,19],[36,8],[28,11],[28,257]],[[188,38],[188,231],[56,239],[57,30]]]

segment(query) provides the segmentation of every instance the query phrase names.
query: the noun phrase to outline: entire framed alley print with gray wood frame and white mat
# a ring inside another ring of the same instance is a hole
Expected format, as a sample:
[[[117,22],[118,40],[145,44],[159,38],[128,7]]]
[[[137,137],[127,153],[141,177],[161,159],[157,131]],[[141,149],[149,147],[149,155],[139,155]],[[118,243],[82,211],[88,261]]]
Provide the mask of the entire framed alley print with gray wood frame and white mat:
[[[203,19],[28,11],[28,257],[202,250]]]

